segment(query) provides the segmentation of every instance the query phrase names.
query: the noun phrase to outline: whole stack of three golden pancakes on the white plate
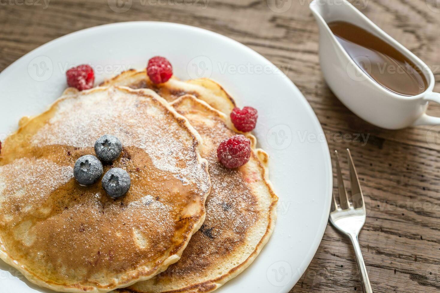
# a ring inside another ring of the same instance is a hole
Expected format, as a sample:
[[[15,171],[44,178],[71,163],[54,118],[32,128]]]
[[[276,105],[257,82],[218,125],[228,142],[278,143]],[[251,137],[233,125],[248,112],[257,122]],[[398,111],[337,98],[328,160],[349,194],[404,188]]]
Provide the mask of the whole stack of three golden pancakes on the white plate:
[[[277,197],[268,155],[224,168],[216,150],[238,132],[235,101],[209,79],[155,85],[126,71],[94,89],[69,88],[23,118],[0,153],[0,258],[59,292],[211,292],[268,241]],[[132,188],[107,197],[77,184],[73,164],[99,136],[123,145],[109,168]],[[124,289],[121,289],[124,288]]]

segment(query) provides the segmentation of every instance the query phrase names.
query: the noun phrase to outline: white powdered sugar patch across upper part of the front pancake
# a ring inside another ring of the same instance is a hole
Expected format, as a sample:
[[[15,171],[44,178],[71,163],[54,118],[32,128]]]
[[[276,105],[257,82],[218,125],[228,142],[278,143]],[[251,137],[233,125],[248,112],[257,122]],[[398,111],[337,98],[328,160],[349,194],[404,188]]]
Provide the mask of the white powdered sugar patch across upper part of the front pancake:
[[[151,91],[151,95],[156,95]],[[142,107],[141,107],[142,105]],[[61,144],[80,148],[94,146],[103,134],[111,134],[122,145],[145,150],[162,171],[194,181],[205,172],[194,154],[194,140],[172,114],[151,98],[112,89],[68,98],[47,125],[33,136],[35,146]],[[200,193],[207,186],[200,185]]]

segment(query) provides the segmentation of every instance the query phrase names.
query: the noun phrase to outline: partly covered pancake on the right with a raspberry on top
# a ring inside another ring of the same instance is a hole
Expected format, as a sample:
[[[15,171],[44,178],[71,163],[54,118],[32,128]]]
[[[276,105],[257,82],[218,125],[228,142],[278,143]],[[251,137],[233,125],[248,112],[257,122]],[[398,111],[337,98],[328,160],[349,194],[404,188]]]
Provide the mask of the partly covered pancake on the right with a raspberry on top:
[[[268,180],[268,155],[255,149],[247,164],[224,168],[217,159],[220,142],[236,134],[226,115],[186,95],[171,104],[202,136],[202,157],[209,162],[212,189],[206,219],[180,261],[152,279],[118,293],[211,292],[245,270],[271,236],[278,197]]]

